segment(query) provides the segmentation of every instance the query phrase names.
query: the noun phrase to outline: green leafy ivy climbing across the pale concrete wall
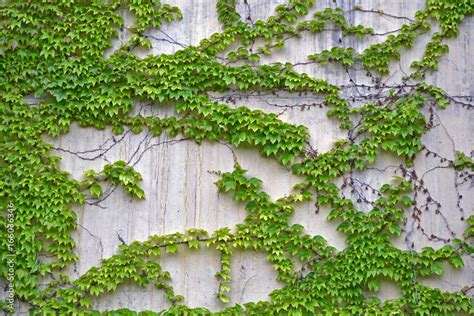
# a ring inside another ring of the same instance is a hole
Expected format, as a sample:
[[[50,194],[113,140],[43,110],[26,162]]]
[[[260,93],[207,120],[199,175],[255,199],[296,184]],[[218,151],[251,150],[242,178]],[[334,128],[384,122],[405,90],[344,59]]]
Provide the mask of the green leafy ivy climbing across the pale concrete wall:
[[[264,253],[284,286],[269,301],[228,306],[220,315],[313,314],[415,314],[472,313],[471,288],[446,292],[424,285],[420,278],[443,274],[443,263],[462,269],[463,256],[473,254],[474,217],[465,210],[463,236],[445,240],[439,249],[400,250],[391,237],[401,233],[411,210],[418,210],[414,194],[422,184],[411,170],[420,153],[427,152],[421,137],[430,129],[427,109],[453,106],[439,87],[425,82],[449,52],[447,42],[457,37],[459,25],[473,14],[470,0],[427,0],[426,7],[398,32],[382,42],[357,51],[334,47],[307,56],[319,66],[333,63],[346,71],[363,67],[382,87],[390,64],[414,45],[419,36],[433,32],[422,57],[413,60],[411,72],[398,86],[362,105],[341,95],[331,82],[294,70],[291,63],[264,64],[262,56],[285,46],[290,38],[337,28],[343,36],[363,39],[376,35],[372,28],[352,25],[342,9],[319,9],[314,0],[290,0],[276,7],[266,20],[242,18],[235,0],[218,0],[216,11],[222,30],[198,45],[174,54],[147,55],[152,42],[147,31],[179,20],[178,7],[159,0],[57,0],[2,1],[0,4],[0,253],[2,280],[13,280],[15,299],[27,304],[32,314],[99,314],[93,300],[133,281],[163,289],[171,308],[142,312],[152,315],[207,315],[205,308],[189,308],[170,284],[170,274],[160,257],[186,246],[220,253],[221,270],[217,298],[228,303],[231,258],[237,250]],[[134,16],[125,26],[119,11]],[[354,7],[351,10],[370,11]],[[311,12],[311,13],[309,13]],[[381,16],[383,11],[372,12]],[[109,57],[111,41],[127,28],[130,40]],[[350,137],[325,153],[308,145],[308,127],[283,122],[278,115],[233,107],[211,98],[211,93],[237,91],[306,93],[324,98],[328,115]],[[26,102],[34,97],[39,102]],[[137,102],[154,106],[173,104],[175,116],[132,115]],[[454,105],[455,106],[455,105]],[[467,104],[466,111],[473,106]],[[243,203],[245,220],[236,227],[216,231],[190,229],[150,236],[144,242],[120,246],[117,253],[72,280],[66,269],[78,260],[71,236],[77,228],[74,205],[86,198],[100,199],[104,185],[123,186],[134,199],[146,199],[142,177],[124,161],[102,170],[85,170],[81,181],[61,170],[59,157],[45,136],[68,133],[72,123],[82,127],[113,127],[116,135],[130,129],[148,130],[154,137],[182,135],[200,144],[224,141],[233,147],[253,147],[300,176],[292,194],[274,201],[262,190],[262,181],[247,175],[238,162],[232,172],[218,173],[217,189]],[[383,185],[369,212],[341,194],[335,182],[354,170],[365,170],[382,153],[403,159],[400,176]],[[428,154],[430,152],[428,151]],[[474,177],[474,161],[458,151],[455,160],[443,158],[446,168],[463,179]],[[347,248],[338,251],[319,235],[304,233],[290,224],[294,208],[311,201],[327,206],[329,220],[339,221]],[[8,208],[14,206],[14,247],[10,244]],[[463,210],[464,212],[464,210]],[[416,212],[415,212],[416,214]],[[14,255],[14,275],[7,262]],[[45,259],[47,258],[47,259]],[[303,265],[308,273],[302,274]],[[381,301],[382,280],[390,280],[402,295]],[[374,293],[367,296],[366,290]],[[1,303],[13,312],[8,301]],[[110,315],[134,315],[131,310]]]

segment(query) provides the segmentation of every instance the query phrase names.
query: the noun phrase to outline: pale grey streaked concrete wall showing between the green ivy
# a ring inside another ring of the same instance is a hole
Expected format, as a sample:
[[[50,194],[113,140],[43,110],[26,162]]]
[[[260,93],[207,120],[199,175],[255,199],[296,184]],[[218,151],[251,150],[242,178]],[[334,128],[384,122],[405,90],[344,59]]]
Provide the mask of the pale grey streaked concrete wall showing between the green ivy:
[[[151,53],[172,53],[180,45],[169,43],[176,41],[183,45],[197,44],[201,39],[221,30],[217,21],[214,0],[167,0],[166,2],[179,6],[184,19],[171,25],[165,25],[161,31],[153,31],[153,35],[163,40],[153,40]],[[239,11],[244,18],[250,14],[252,21],[268,17],[273,8],[283,0],[248,0],[239,1]],[[336,1],[334,1],[336,2]],[[320,2],[318,9],[324,6],[335,6],[333,1]],[[367,9],[383,9],[385,13],[396,16],[413,18],[417,9],[423,8],[424,0],[351,0],[337,1],[339,6],[349,10],[354,5],[361,5]],[[376,32],[383,33],[397,30],[407,20],[380,17],[373,13],[349,12],[348,17],[355,24],[372,26]],[[130,17],[124,13],[127,23],[132,23]],[[470,52],[474,41],[474,20],[467,18],[461,26],[459,38],[450,41],[450,54],[443,57],[440,69],[436,74],[429,76],[428,81],[445,89],[453,96],[469,96],[473,94],[473,71]],[[121,40],[127,39],[129,34],[122,33]],[[363,50],[371,43],[382,41],[385,36],[374,36],[368,40],[359,41],[354,38],[343,38],[338,31],[323,32],[318,36],[305,34],[301,39],[292,39],[287,46],[277,54],[267,58],[264,62],[289,61],[303,62],[306,56],[320,52],[333,46],[352,46],[358,51]],[[400,62],[393,63],[394,75],[388,78],[387,83],[400,81],[404,71],[409,70],[409,63],[419,58],[423,52],[428,36],[422,36],[416,46],[404,51]],[[115,47],[120,41],[115,42]],[[110,54],[111,52],[108,52]],[[304,65],[296,68],[312,76],[321,77],[334,84],[348,84],[350,78],[358,83],[370,83],[365,71],[350,70],[344,72],[335,65]],[[359,91],[370,94],[370,91]],[[347,96],[357,95],[357,91],[343,89]],[[222,97],[215,95],[216,99]],[[465,101],[463,98],[458,100]],[[319,152],[331,148],[336,139],[346,138],[345,132],[338,130],[337,125],[326,117],[326,109],[311,106],[305,110],[293,105],[318,103],[321,100],[310,96],[292,94],[257,95],[249,94],[237,99],[236,105],[246,105],[253,109],[262,109],[266,112],[279,113],[283,121],[303,124],[311,133],[311,144]],[[290,107],[289,107],[290,106]],[[149,105],[137,104],[137,112],[144,115],[172,115],[170,108],[156,108]],[[427,113],[428,115],[428,113]],[[453,159],[454,150],[461,150],[470,154],[474,149],[474,111],[462,108],[460,104],[452,104],[447,110],[436,110],[433,114],[434,126],[424,137],[423,142],[432,151],[443,157]],[[62,157],[62,167],[69,171],[72,177],[81,179],[86,169],[100,170],[103,165],[116,160],[129,161],[143,176],[142,188],[146,199],[143,201],[131,200],[121,188],[115,190],[99,205],[84,205],[75,207],[78,213],[79,228],[74,237],[77,241],[79,262],[71,268],[71,275],[78,277],[92,266],[99,265],[100,260],[108,258],[117,252],[121,244],[134,240],[146,240],[152,234],[167,234],[183,232],[189,228],[204,228],[214,231],[222,227],[234,227],[243,221],[245,210],[242,205],[236,204],[230,196],[219,194],[213,185],[218,178],[209,171],[231,171],[233,153],[226,144],[211,144],[204,142],[196,145],[192,141],[169,138],[163,135],[151,138],[145,132],[133,135],[130,132],[122,136],[113,136],[110,129],[103,131],[79,128],[73,126],[68,135],[49,140],[58,149],[56,153]],[[263,188],[272,198],[279,198],[291,192],[293,184],[299,181],[291,175],[289,170],[272,160],[259,156],[257,150],[235,150],[238,162],[249,170],[249,174],[264,181]],[[383,183],[390,182],[394,171],[400,164],[396,158],[382,155],[371,168],[346,175],[379,188]],[[420,154],[415,163],[418,175],[425,179],[425,186],[433,200],[441,204],[441,213],[436,214],[432,205],[430,210],[422,215],[421,224],[425,234],[431,233],[452,238],[449,229],[459,236],[465,229],[465,223],[460,220],[472,211],[474,205],[473,182],[466,182],[456,189],[454,183],[459,181],[458,174],[452,169],[434,168],[439,160],[433,156],[425,157]],[[434,168],[434,169],[433,169]],[[357,180],[355,180],[357,182]],[[342,181],[342,179],[341,179]],[[368,199],[370,190],[360,187],[361,194]],[[355,201],[357,190],[354,193],[346,192]],[[459,195],[463,198],[459,199]],[[420,201],[426,196],[419,196]],[[91,201],[93,202],[93,201]],[[459,203],[458,203],[459,202]],[[361,209],[368,209],[360,203]],[[460,208],[464,208],[464,213]],[[471,212],[472,214],[472,212]],[[310,234],[324,236],[328,242],[338,249],[345,247],[344,236],[336,232],[336,224],[326,220],[327,210],[316,214],[314,206],[309,203],[297,208],[292,219],[300,223]],[[415,229],[410,216],[403,235],[394,240],[401,248],[410,247],[413,243],[416,249],[423,246],[440,247],[442,242],[429,241],[420,230]],[[446,290],[459,290],[465,285],[473,283],[474,260],[466,258],[466,268],[462,271],[447,270],[447,273],[438,279],[430,279],[426,284]],[[224,307],[219,303],[214,293],[218,283],[214,274],[219,269],[218,254],[211,250],[195,252],[180,252],[177,255],[165,256],[162,261],[164,269],[172,275],[172,285],[177,294],[185,296],[185,303],[189,306],[205,306],[212,310]],[[253,252],[238,253],[232,261],[232,293],[231,303],[245,303],[264,300],[268,294],[281,286],[275,280],[276,273],[265,259],[263,254]],[[391,298],[399,295],[394,285],[382,286],[382,297]],[[161,310],[168,305],[164,294],[152,288],[140,288],[133,284],[121,286],[116,293],[101,296],[94,302],[94,307],[116,309],[128,307],[135,310]]]

